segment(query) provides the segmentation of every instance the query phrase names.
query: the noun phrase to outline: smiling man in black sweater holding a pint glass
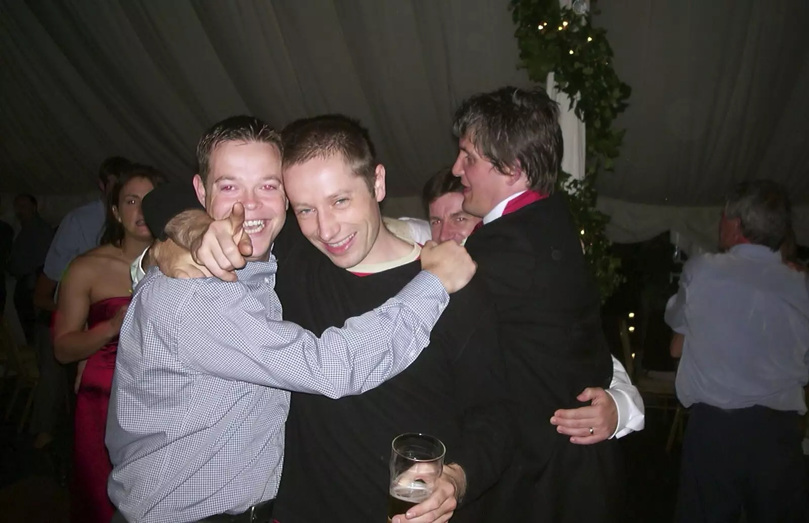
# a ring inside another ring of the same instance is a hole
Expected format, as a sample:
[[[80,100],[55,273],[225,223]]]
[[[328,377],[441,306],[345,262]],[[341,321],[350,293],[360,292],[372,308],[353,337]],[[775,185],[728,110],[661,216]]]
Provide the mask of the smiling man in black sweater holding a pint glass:
[[[299,121],[284,138],[284,189],[296,219],[273,244],[276,291],[287,321],[319,333],[393,296],[417,272],[421,247],[383,225],[384,168],[356,121]],[[197,259],[209,246],[195,249]],[[293,393],[273,517],[384,521],[392,440],[422,432],[446,445],[446,465],[434,494],[409,511],[415,517],[401,514],[394,523],[447,521],[456,504],[453,521],[479,521],[513,447],[506,383],[494,309],[472,279],[430,346],[396,378],[340,400]]]

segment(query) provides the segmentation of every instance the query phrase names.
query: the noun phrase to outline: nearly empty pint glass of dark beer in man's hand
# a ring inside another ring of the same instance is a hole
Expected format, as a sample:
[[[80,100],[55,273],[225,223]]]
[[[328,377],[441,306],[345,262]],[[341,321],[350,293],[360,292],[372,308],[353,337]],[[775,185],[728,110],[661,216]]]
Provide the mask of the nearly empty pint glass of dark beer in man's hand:
[[[430,497],[441,476],[444,453],[441,440],[410,432],[396,436],[391,452],[391,484],[388,491],[388,523]]]

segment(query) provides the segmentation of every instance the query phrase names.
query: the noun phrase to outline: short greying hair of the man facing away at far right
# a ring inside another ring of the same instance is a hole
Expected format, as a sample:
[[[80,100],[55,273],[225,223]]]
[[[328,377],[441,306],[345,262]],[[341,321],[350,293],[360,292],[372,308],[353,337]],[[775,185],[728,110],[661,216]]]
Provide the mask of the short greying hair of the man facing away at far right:
[[[726,219],[739,219],[742,236],[752,244],[777,251],[792,228],[792,206],[786,189],[770,180],[743,181],[725,198]]]

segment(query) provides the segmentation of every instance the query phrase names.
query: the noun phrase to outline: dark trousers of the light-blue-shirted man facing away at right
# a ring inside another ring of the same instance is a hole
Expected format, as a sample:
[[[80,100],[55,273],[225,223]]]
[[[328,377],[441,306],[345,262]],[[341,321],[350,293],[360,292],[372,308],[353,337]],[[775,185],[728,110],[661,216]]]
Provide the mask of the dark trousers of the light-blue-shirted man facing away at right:
[[[676,523],[809,521],[807,471],[796,412],[722,410],[697,403],[683,442]]]

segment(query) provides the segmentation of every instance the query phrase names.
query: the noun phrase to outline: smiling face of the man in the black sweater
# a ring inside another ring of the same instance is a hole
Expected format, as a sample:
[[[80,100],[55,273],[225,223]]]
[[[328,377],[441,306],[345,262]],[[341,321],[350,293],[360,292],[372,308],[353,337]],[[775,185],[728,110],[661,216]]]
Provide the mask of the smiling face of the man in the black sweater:
[[[376,253],[385,198],[385,169],[377,165],[374,193],[339,155],[284,170],[284,185],[303,235],[338,267],[383,260]]]

